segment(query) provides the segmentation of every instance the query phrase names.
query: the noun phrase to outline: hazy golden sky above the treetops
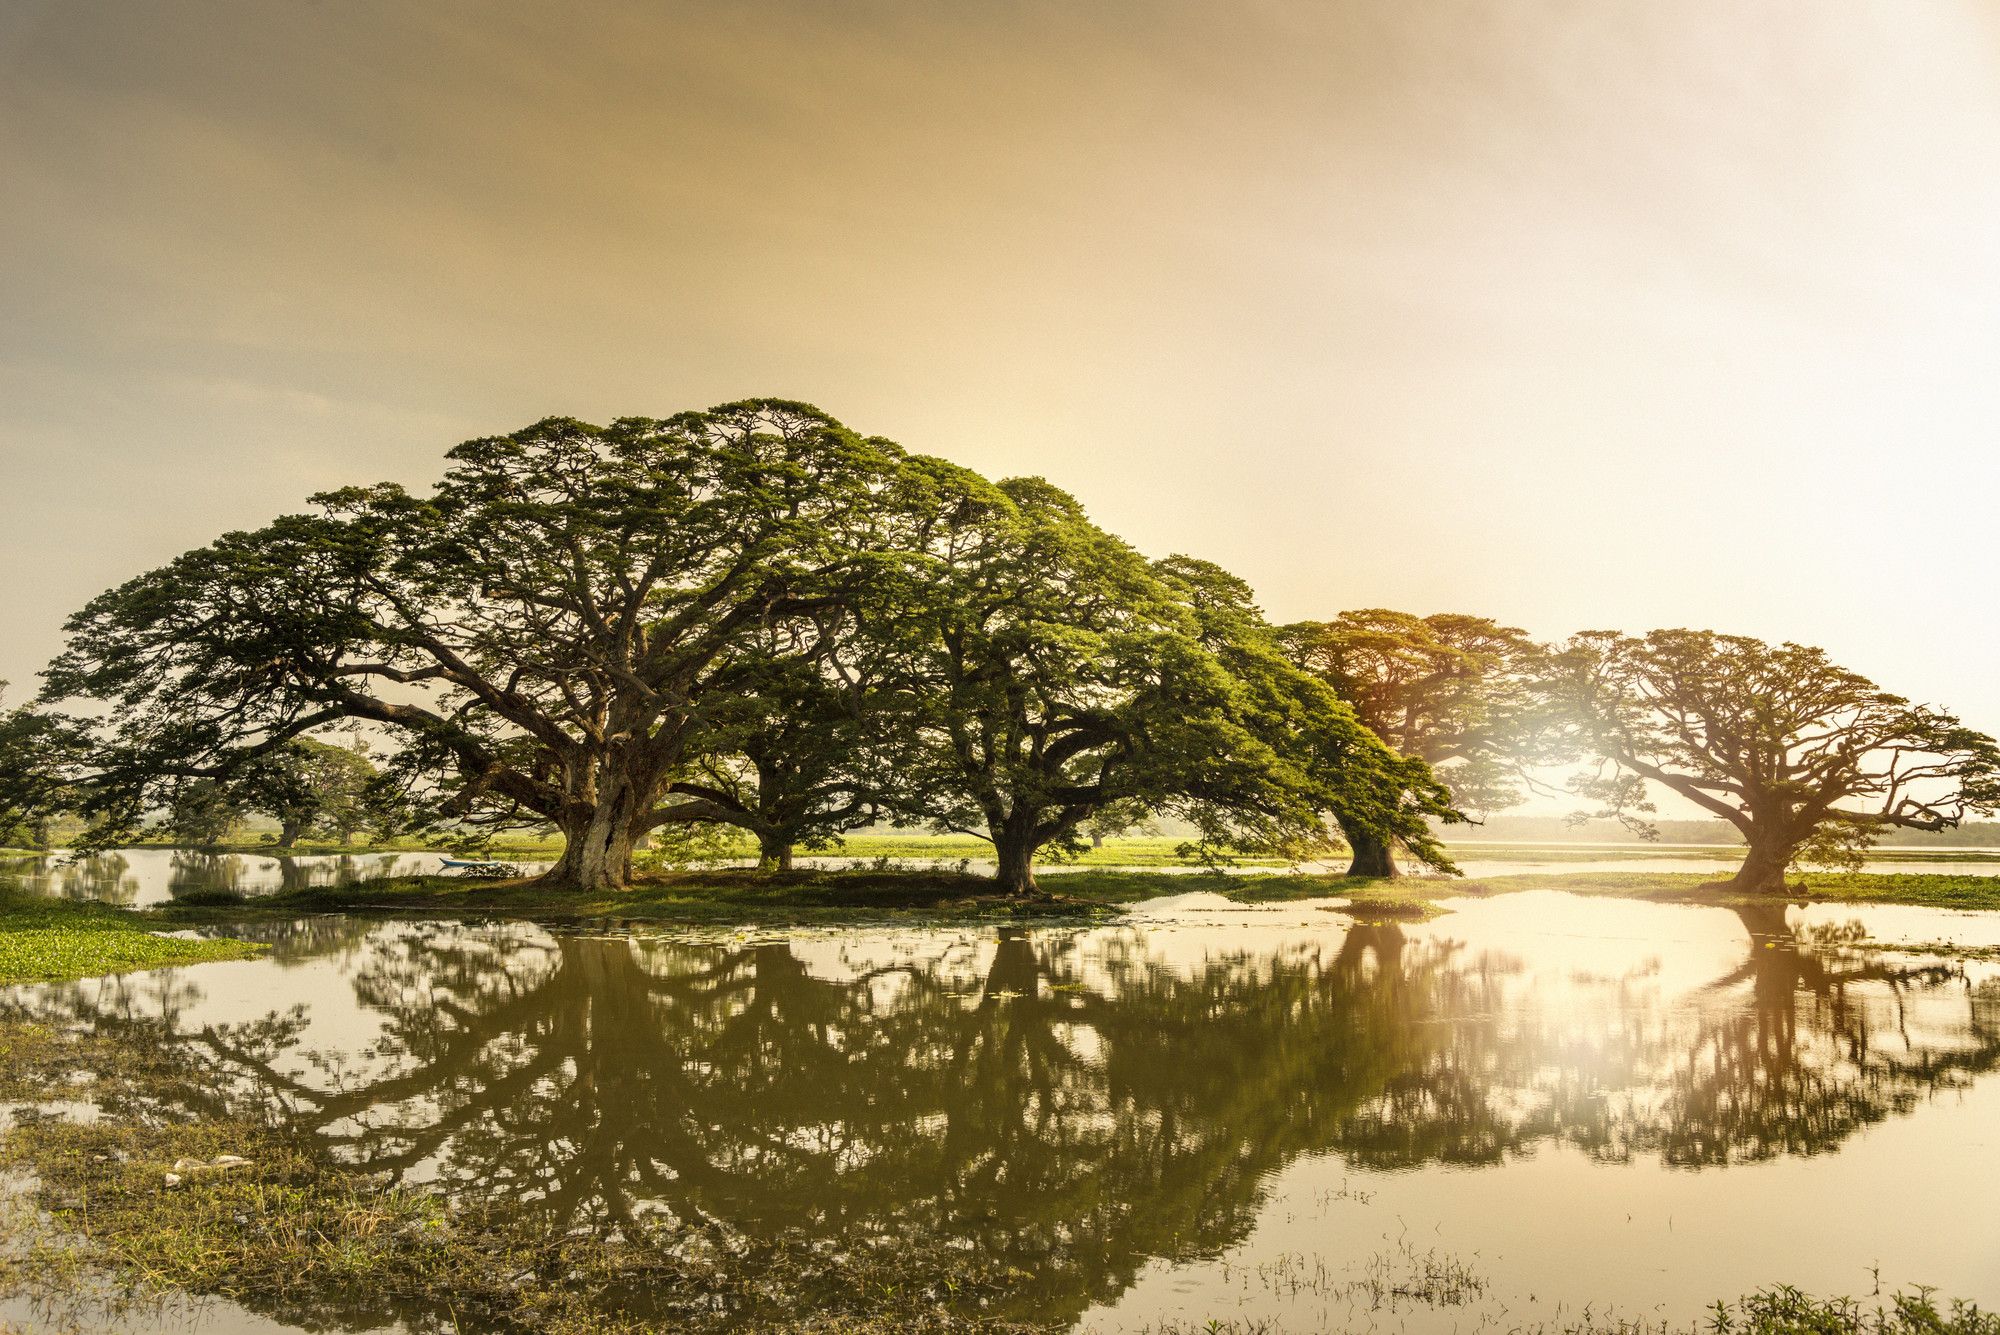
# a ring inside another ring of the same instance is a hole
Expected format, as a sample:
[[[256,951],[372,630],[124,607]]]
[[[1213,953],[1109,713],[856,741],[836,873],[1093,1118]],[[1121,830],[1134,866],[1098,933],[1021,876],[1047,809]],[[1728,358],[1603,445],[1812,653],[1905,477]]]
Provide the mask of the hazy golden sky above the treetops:
[[[468,436],[774,394],[1282,620],[2000,731],[2000,6],[0,0],[0,675]]]

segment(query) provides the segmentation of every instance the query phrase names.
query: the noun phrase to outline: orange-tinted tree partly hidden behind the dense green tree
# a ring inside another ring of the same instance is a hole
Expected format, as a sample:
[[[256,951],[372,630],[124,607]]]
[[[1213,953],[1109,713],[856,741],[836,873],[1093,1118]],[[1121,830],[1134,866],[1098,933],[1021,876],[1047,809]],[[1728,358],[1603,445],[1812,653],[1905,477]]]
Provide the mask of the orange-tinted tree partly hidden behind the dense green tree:
[[[1398,755],[1434,767],[1452,805],[1492,811],[1522,801],[1514,761],[1536,727],[1536,646],[1490,618],[1368,608],[1280,632],[1286,658],[1324,681]],[[1334,811],[1354,861],[1348,875],[1396,875],[1394,847],[1372,821]]]

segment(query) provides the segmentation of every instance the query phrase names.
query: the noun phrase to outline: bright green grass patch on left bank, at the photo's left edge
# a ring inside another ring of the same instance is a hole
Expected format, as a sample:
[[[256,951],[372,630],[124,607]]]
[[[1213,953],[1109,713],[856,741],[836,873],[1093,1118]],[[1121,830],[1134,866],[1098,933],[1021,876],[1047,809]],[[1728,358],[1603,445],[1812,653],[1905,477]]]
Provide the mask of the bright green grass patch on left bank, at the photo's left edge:
[[[210,959],[248,959],[262,945],[152,935],[156,921],[102,903],[0,891],[0,983],[96,977]]]

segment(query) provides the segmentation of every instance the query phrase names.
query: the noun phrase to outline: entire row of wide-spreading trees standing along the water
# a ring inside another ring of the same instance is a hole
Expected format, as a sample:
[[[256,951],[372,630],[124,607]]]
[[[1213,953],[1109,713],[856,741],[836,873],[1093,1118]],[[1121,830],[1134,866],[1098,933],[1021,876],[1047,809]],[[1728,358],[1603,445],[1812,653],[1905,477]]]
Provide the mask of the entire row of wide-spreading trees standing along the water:
[[[16,827],[164,813],[544,825],[550,887],[616,889],[662,829],[770,867],[890,821],[992,841],[1000,887],[1152,815],[1190,855],[1452,871],[1432,821],[1536,767],[1644,827],[1646,783],[1736,825],[1746,885],[2000,799],[2000,751],[1818,650],[1708,632],[1532,644],[1388,610],[1274,626],[1210,562],[1146,560],[1040,478],[988,482],[794,402],[550,418],[226,534],[68,624],[0,723]],[[330,745],[362,729],[380,765]]]

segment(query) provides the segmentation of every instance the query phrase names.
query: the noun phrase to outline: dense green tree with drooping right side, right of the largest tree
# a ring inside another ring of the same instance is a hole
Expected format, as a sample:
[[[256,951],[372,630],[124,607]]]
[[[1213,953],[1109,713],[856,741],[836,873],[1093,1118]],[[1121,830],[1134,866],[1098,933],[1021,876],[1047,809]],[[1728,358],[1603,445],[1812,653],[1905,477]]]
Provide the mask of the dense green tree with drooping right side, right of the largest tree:
[[[1382,783],[1370,765],[1396,757],[1350,709],[1300,695],[1312,683],[1268,644],[1198,614],[1194,586],[1220,572],[1148,564],[1040,478],[924,466],[926,560],[864,604],[860,638],[890,648],[910,695],[918,747],[894,801],[990,839],[1004,891],[1034,889],[1038,853],[1078,849],[1112,809],[1186,815],[1210,845],[1272,843],[1318,825],[1338,775],[1422,825],[1402,809],[1412,775]]]

